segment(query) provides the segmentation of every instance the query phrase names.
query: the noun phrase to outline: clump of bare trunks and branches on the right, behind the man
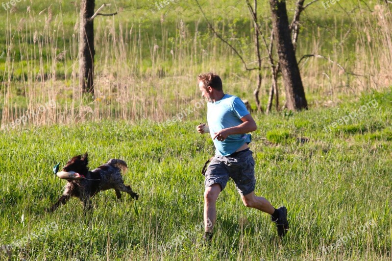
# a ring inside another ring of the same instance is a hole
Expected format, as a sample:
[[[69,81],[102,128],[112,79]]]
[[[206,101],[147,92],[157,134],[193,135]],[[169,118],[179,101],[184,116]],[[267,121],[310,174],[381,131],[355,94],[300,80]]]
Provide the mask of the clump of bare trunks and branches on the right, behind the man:
[[[316,2],[317,0],[312,0],[310,3],[308,3],[305,6],[303,5],[305,0],[298,0],[296,3],[294,19],[290,25],[289,25],[288,18],[287,18],[287,10],[286,10],[285,1],[284,0],[271,1],[271,2],[275,3],[275,6],[276,6],[276,4],[280,4],[279,6],[282,6],[282,3],[283,3],[284,9],[275,10],[271,7],[271,13],[275,12],[275,16],[272,15],[272,20],[273,20],[272,24],[274,24],[274,22],[276,22],[276,23],[275,23],[275,26],[273,26],[273,29],[271,30],[270,44],[267,43],[266,37],[263,34],[262,30],[260,29],[260,25],[259,25],[258,18],[257,18],[257,0],[254,0],[253,6],[250,4],[249,0],[245,0],[245,1],[247,4],[247,7],[249,9],[249,12],[251,14],[254,29],[255,29],[254,44],[255,44],[256,57],[257,57],[257,62],[258,62],[258,67],[256,67],[256,68],[247,68],[245,60],[241,56],[239,51],[237,51],[235,47],[230,45],[230,43],[228,43],[226,40],[224,40],[219,35],[219,33],[213,28],[213,26],[208,21],[198,0],[196,0],[196,3],[198,5],[201,13],[203,14],[204,18],[206,19],[207,24],[209,25],[212,32],[222,42],[224,42],[225,44],[227,44],[229,47],[231,47],[234,50],[234,52],[239,56],[239,58],[243,62],[244,66],[245,66],[245,70],[247,70],[247,71],[258,70],[257,86],[253,92],[253,95],[255,96],[255,101],[256,101],[258,111],[263,112],[263,108],[260,104],[260,99],[259,99],[259,93],[260,93],[260,87],[261,87],[261,81],[262,81],[261,70],[262,70],[262,60],[263,60],[263,58],[261,57],[261,52],[260,52],[261,39],[263,40],[265,48],[268,52],[268,58],[269,58],[270,67],[271,67],[271,74],[272,74],[270,96],[269,96],[269,100],[268,100],[268,104],[267,104],[266,113],[268,114],[271,110],[272,100],[273,100],[274,96],[275,96],[275,100],[276,100],[276,109],[277,110],[279,109],[279,95],[278,95],[278,88],[277,88],[278,87],[277,86],[277,77],[278,77],[278,73],[280,71],[282,71],[281,70],[282,66],[285,67],[283,70],[284,71],[283,78],[284,78],[284,82],[285,82],[286,96],[287,96],[286,106],[291,110],[299,110],[299,109],[307,108],[305,93],[303,90],[298,65],[296,63],[295,49],[296,49],[296,43],[297,43],[298,34],[299,34],[300,14],[307,6],[309,6],[313,2]],[[270,3],[271,6],[273,3]],[[281,12],[279,14],[279,16],[276,15],[276,11]],[[281,15],[283,15],[283,17],[285,17],[285,19],[286,19],[285,22],[281,21],[282,20]],[[275,19],[273,19],[273,18],[275,18]],[[284,37],[284,38],[282,38],[282,37]],[[276,40],[276,43],[277,43],[277,50],[278,50],[278,56],[279,56],[278,63],[276,63],[274,61],[273,54],[272,54],[274,39]],[[279,45],[279,43],[281,45]],[[282,45],[282,43],[284,43],[284,44]],[[290,45],[291,45],[291,47],[290,47]],[[284,52],[282,52],[282,50],[284,50]]]

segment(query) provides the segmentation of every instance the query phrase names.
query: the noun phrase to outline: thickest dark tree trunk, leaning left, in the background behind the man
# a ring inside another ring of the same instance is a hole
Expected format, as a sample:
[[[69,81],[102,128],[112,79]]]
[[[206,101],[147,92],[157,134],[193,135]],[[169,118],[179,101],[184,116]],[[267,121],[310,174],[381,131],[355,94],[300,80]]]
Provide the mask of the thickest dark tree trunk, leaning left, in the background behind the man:
[[[290,35],[286,1],[270,0],[270,7],[273,33],[279,55],[279,65],[286,89],[287,108],[289,110],[307,109],[308,104]]]

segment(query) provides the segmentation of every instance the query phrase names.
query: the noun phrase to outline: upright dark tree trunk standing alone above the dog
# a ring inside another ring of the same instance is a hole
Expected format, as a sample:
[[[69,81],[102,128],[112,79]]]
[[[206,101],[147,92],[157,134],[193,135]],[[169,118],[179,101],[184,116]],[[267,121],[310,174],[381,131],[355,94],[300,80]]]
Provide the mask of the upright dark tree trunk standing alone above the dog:
[[[79,24],[79,86],[94,95],[94,15],[95,0],[82,0]]]

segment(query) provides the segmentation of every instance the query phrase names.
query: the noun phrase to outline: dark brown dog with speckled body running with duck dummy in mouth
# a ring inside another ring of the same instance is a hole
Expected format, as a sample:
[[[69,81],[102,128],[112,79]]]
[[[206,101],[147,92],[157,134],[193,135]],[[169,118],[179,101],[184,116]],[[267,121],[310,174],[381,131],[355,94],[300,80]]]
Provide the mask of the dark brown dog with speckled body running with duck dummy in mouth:
[[[65,172],[76,172],[82,177],[79,180],[68,180],[63,195],[50,208],[50,212],[55,211],[60,205],[64,205],[72,197],[77,197],[83,202],[84,210],[91,208],[90,198],[102,190],[114,189],[118,199],[120,192],[127,192],[132,198],[138,199],[139,195],[132,191],[130,186],[125,186],[121,170],[126,170],[127,166],[123,160],[110,159],[106,164],[89,171],[87,167],[88,155],[78,155],[73,157],[63,167]]]

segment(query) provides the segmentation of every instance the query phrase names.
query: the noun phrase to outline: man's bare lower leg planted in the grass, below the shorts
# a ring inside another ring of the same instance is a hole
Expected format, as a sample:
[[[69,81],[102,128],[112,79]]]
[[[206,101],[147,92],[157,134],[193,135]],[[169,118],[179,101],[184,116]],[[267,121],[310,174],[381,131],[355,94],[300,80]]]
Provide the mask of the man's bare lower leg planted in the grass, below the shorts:
[[[213,184],[204,190],[204,232],[212,232],[217,220],[216,202],[221,185]]]

